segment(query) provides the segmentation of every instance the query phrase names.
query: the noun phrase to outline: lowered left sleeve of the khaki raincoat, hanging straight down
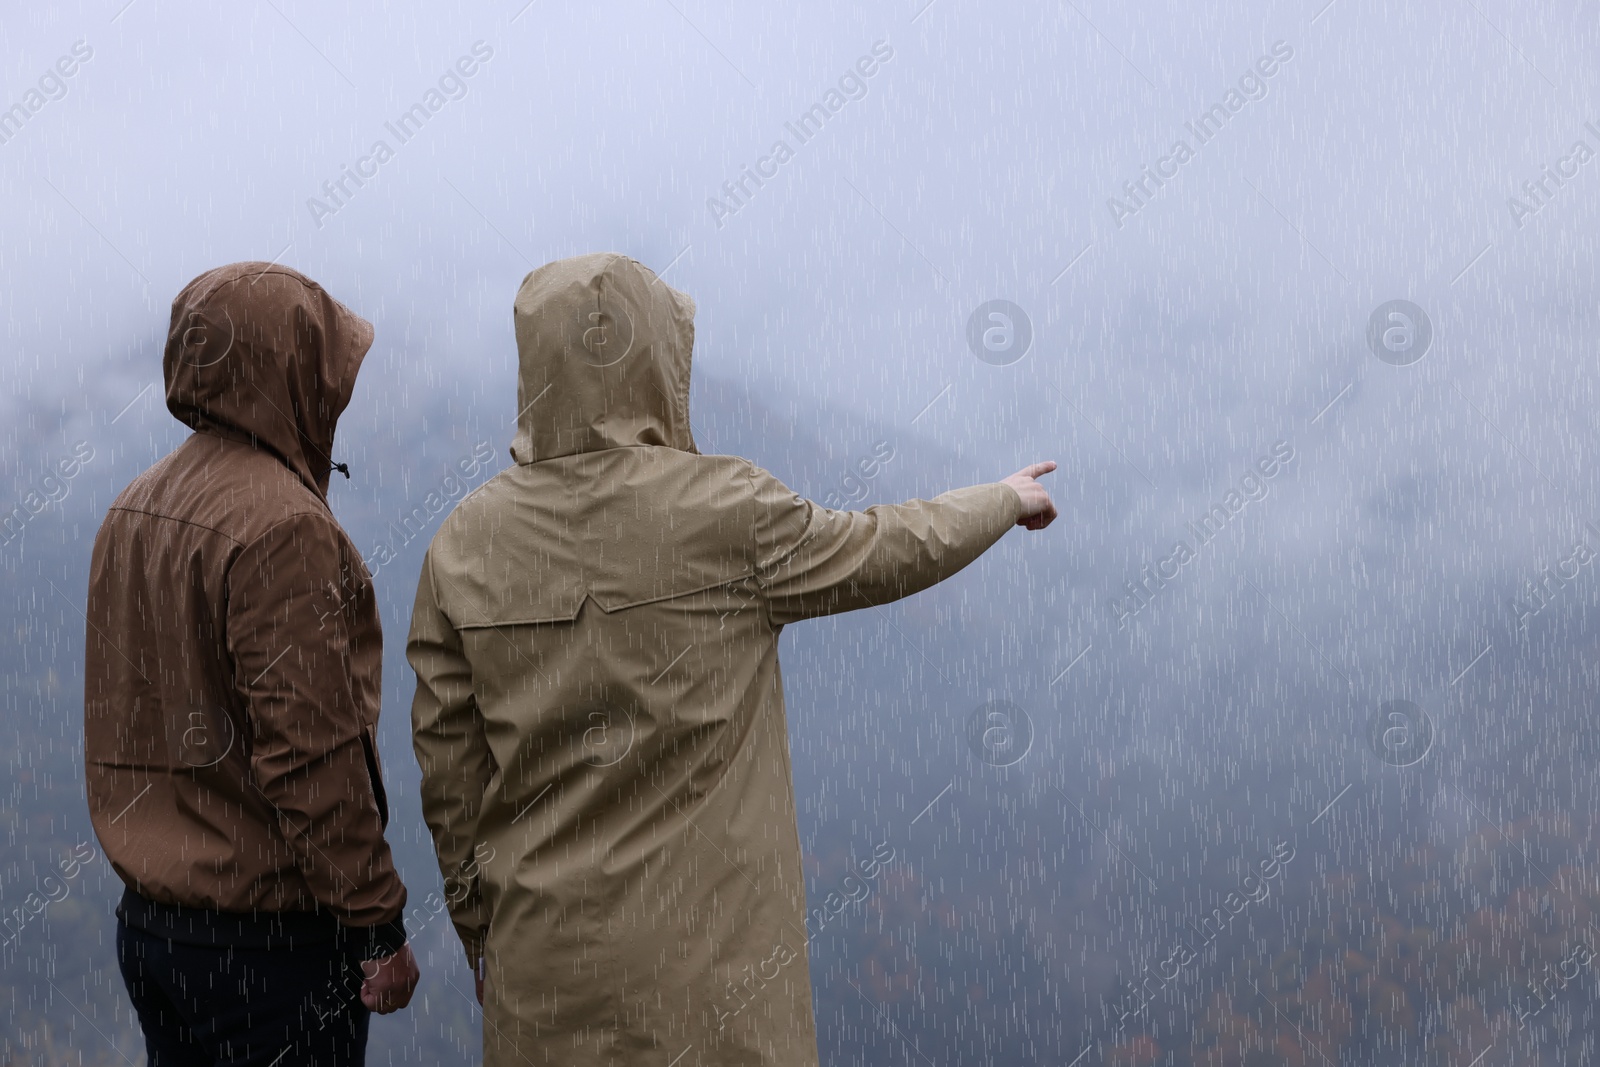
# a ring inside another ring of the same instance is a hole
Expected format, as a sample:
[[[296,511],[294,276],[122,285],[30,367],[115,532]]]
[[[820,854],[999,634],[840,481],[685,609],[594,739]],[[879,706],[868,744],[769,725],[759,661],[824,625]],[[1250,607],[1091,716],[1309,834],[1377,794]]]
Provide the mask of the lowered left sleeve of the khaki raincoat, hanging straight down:
[[[411,745],[422,768],[422,817],[438,853],[450,918],[469,963],[477,966],[483,953],[482,929],[488,925],[478,891],[480,864],[493,857],[483,854],[486,846],[478,841],[478,814],[494,761],[461,633],[445,616],[434,589],[432,552],[422,560],[406,659],[416,672]]]

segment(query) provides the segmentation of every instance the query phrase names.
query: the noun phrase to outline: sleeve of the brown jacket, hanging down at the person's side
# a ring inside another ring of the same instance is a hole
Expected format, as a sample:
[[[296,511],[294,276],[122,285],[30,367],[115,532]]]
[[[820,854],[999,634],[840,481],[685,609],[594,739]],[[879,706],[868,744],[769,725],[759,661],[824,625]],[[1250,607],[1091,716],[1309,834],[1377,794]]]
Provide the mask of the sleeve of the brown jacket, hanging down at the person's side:
[[[405,886],[384,841],[349,606],[370,582],[330,518],[296,515],[227,573],[227,649],[250,721],[250,792],[270,805],[317,902],[365,928],[368,957],[405,944]]]

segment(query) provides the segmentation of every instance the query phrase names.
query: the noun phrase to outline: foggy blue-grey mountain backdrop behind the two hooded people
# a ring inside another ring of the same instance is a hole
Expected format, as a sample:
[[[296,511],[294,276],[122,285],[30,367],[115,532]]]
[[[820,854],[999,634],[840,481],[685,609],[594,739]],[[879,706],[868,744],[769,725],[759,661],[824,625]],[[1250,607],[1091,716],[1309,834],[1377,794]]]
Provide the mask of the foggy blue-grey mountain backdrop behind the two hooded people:
[[[275,261],[374,323],[331,502],[394,553],[419,901],[424,501],[509,462],[512,296],[586,251],[694,298],[702,451],[850,506],[1061,464],[1046,531],[784,635],[824,1062],[1595,1062],[1597,13],[13,6],[0,1062],[142,1057],[106,859],[35,904],[173,296]],[[413,937],[370,1062],[472,1061]]]

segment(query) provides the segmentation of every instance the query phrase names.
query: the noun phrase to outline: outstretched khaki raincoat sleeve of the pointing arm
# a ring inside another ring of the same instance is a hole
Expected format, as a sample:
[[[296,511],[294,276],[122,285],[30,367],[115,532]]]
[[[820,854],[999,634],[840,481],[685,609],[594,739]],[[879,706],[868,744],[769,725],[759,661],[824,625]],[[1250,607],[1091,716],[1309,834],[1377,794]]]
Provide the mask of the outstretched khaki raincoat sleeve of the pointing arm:
[[[776,625],[890,603],[955,574],[1016,525],[1008,485],[837,512],[752,467],[755,577]]]

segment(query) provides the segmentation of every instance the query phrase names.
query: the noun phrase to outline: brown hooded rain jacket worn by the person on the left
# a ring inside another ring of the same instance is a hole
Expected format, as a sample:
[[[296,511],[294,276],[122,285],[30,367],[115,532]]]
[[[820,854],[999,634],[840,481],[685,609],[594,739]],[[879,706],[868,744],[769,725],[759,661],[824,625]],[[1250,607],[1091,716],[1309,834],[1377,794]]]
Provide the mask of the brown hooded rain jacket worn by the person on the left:
[[[94,539],[83,734],[94,832],[139,896],[318,912],[392,945],[378,609],[325,499],[371,341],[264,262],[173,302],[166,406],[195,432]]]

